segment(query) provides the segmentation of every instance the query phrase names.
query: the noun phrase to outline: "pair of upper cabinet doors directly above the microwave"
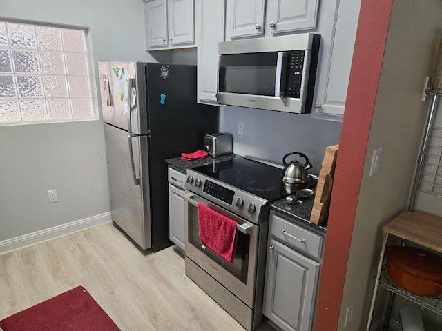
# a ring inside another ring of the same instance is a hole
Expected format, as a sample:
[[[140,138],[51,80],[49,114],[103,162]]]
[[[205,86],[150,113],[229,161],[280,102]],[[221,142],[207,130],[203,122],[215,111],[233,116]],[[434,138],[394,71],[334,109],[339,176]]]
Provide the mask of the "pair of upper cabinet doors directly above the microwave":
[[[227,0],[227,39],[316,28],[319,0]]]

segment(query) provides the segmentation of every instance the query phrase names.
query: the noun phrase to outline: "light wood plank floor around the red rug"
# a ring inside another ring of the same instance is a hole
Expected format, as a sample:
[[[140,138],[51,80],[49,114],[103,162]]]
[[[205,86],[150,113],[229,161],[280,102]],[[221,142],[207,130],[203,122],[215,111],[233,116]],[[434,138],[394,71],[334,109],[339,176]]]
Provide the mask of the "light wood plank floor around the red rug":
[[[123,331],[244,331],[186,277],[181,252],[143,254],[111,223],[0,255],[0,320],[78,285]]]

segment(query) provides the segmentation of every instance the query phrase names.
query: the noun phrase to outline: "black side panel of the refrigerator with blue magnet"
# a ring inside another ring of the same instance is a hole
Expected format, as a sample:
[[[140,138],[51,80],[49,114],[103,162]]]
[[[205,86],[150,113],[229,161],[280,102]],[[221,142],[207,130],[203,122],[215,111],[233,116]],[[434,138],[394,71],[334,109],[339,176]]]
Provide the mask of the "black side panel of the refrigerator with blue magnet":
[[[169,197],[164,159],[202,150],[218,132],[218,107],[196,102],[196,67],[146,63],[153,251],[169,241]]]

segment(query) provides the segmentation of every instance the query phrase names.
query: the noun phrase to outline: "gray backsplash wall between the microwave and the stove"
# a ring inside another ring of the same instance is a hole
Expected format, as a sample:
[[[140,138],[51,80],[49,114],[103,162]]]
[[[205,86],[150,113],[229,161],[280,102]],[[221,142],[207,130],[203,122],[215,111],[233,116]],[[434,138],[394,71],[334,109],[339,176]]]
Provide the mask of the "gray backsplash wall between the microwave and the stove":
[[[238,121],[244,122],[244,134],[238,134]],[[318,174],[325,148],[339,143],[340,127],[340,122],[312,119],[311,114],[220,107],[220,132],[233,134],[233,152],[280,163],[285,154],[302,152],[313,165],[312,174]]]

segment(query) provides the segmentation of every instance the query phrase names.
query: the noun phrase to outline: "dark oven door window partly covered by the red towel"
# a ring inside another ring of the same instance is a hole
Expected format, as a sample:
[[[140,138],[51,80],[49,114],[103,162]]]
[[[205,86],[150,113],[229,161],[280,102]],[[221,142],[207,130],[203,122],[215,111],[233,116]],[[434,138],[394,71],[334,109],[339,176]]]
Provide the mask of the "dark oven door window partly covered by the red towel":
[[[189,204],[189,242],[198,250],[206,254],[216,263],[222,265],[222,268],[229,271],[233,276],[240,279],[242,283],[247,284],[247,271],[249,266],[249,247],[250,237],[247,234],[237,231],[236,249],[233,257],[233,265],[222,259],[209,250],[201,247],[200,237],[198,236],[198,208]]]

